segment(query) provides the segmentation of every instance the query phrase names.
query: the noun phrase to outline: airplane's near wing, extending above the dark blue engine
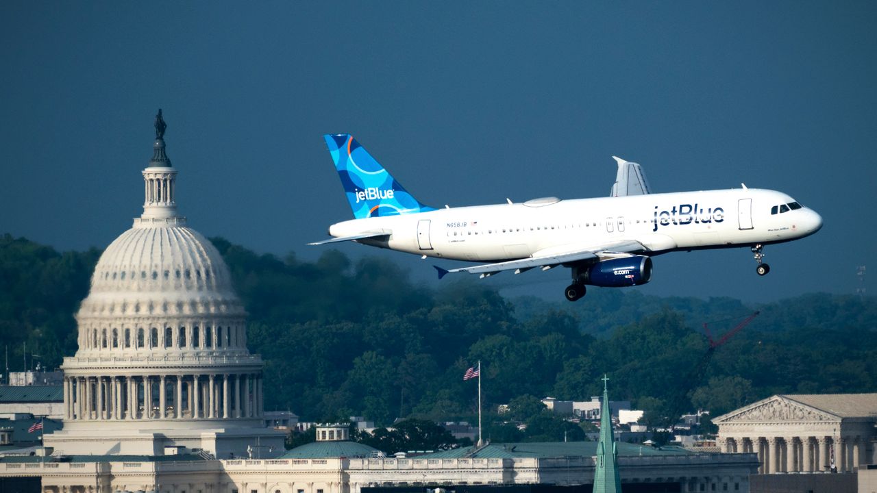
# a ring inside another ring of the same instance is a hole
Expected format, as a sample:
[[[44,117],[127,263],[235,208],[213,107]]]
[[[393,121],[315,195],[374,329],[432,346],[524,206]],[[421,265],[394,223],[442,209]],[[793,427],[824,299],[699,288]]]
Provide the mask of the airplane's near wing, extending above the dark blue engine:
[[[439,279],[449,273],[467,272],[469,274],[480,274],[482,277],[502,272],[503,270],[514,270],[515,274],[519,274],[531,268],[543,268],[545,270],[562,264],[570,264],[581,261],[597,260],[602,257],[613,257],[629,254],[639,254],[648,251],[642,243],[631,239],[623,241],[614,241],[610,243],[602,243],[590,246],[565,246],[562,249],[552,247],[532,254],[525,259],[517,261],[504,261],[492,264],[476,265],[474,267],[453,268],[446,270],[433,266],[439,271]]]

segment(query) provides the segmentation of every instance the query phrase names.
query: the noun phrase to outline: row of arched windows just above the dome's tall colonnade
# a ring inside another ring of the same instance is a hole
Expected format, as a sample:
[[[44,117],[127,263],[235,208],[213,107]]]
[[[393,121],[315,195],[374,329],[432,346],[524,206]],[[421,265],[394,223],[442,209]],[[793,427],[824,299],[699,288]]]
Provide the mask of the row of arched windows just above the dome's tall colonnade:
[[[190,347],[212,348],[214,341],[217,348],[232,347],[232,342],[234,346],[241,346],[240,338],[242,332],[235,327],[216,327],[216,332],[210,327],[205,327],[204,329],[206,333],[204,334],[205,337],[203,337],[202,344],[201,331],[198,330],[197,325],[192,327],[189,338]],[[148,341],[146,340],[147,337]],[[189,347],[186,327],[179,327],[176,330],[173,327],[165,328],[163,346],[174,347],[175,339],[177,342],[176,347]],[[90,342],[92,348],[132,347],[132,344],[137,349],[144,348],[147,344],[149,347],[159,347],[159,329],[153,327],[149,330],[148,334],[142,327],[137,329],[136,332],[132,332],[132,329],[125,329],[122,332],[119,332],[118,329],[112,329],[111,332],[107,332],[107,329],[100,329],[99,332],[98,329],[94,329],[91,332]]]

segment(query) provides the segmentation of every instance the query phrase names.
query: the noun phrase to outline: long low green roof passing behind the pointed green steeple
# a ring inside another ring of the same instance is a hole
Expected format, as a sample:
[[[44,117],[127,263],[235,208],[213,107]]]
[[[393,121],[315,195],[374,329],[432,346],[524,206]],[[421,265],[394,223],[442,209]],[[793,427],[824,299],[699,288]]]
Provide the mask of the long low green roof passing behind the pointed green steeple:
[[[645,445],[616,442],[618,456],[625,455],[686,455],[693,454],[688,450],[676,447],[654,448]],[[489,444],[473,454],[476,447],[460,447],[452,450],[443,450],[434,454],[425,454],[424,459],[511,459],[535,457],[544,459],[548,457],[594,457],[596,455],[597,442],[595,441],[570,441],[570,442],[532,442],[532,443],[498,443]]]

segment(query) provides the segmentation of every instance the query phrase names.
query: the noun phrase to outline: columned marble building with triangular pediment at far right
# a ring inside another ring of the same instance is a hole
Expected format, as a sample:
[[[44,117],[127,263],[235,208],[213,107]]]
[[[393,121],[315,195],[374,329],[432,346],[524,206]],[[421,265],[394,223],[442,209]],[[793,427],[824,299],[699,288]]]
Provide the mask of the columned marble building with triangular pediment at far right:
[[[877,394],[778,395],[713,423],[722,450],[758,454],[762,474],[852,472],[874,462]]]

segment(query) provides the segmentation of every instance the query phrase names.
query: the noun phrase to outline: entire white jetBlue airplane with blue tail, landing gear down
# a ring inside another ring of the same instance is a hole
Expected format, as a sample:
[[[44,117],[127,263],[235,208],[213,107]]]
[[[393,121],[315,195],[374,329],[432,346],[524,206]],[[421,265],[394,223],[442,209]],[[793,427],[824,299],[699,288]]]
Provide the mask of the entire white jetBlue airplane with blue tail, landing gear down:
[[[759,275],[765,245],[809,236],[822,227],[816,213],[782,192],[766,189],[654,194],[637,163],[615,156],[609,197],[434,209],[411,196],[349,134],[325,135],[354,219],[329,226],[325,245],[355,241],[426,257],[481,262],[435,268],[439,279],[468,272],[570,268],[565,295],[585,285],[624,287],[652,279],[652,256],[705,248],[750,247]]]

